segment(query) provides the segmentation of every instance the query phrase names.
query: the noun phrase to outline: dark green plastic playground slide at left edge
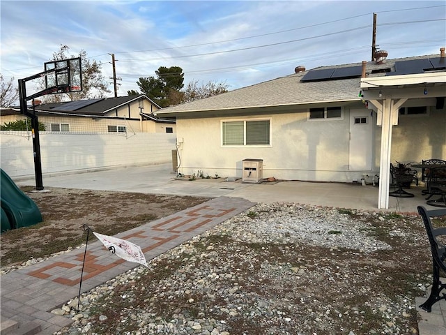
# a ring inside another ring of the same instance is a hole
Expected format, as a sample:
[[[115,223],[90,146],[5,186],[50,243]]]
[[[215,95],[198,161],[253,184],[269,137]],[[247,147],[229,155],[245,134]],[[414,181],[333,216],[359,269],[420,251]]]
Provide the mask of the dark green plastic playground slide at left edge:
[[[9,221],[9,228],[22,228],[42,222],[42,214],[28,195],[18,188],[13,179],[0,169],[0,202]],[[8,224],[4,224],[5,229]],[[3,213],[1,214],[1,231],[3,232]]]

